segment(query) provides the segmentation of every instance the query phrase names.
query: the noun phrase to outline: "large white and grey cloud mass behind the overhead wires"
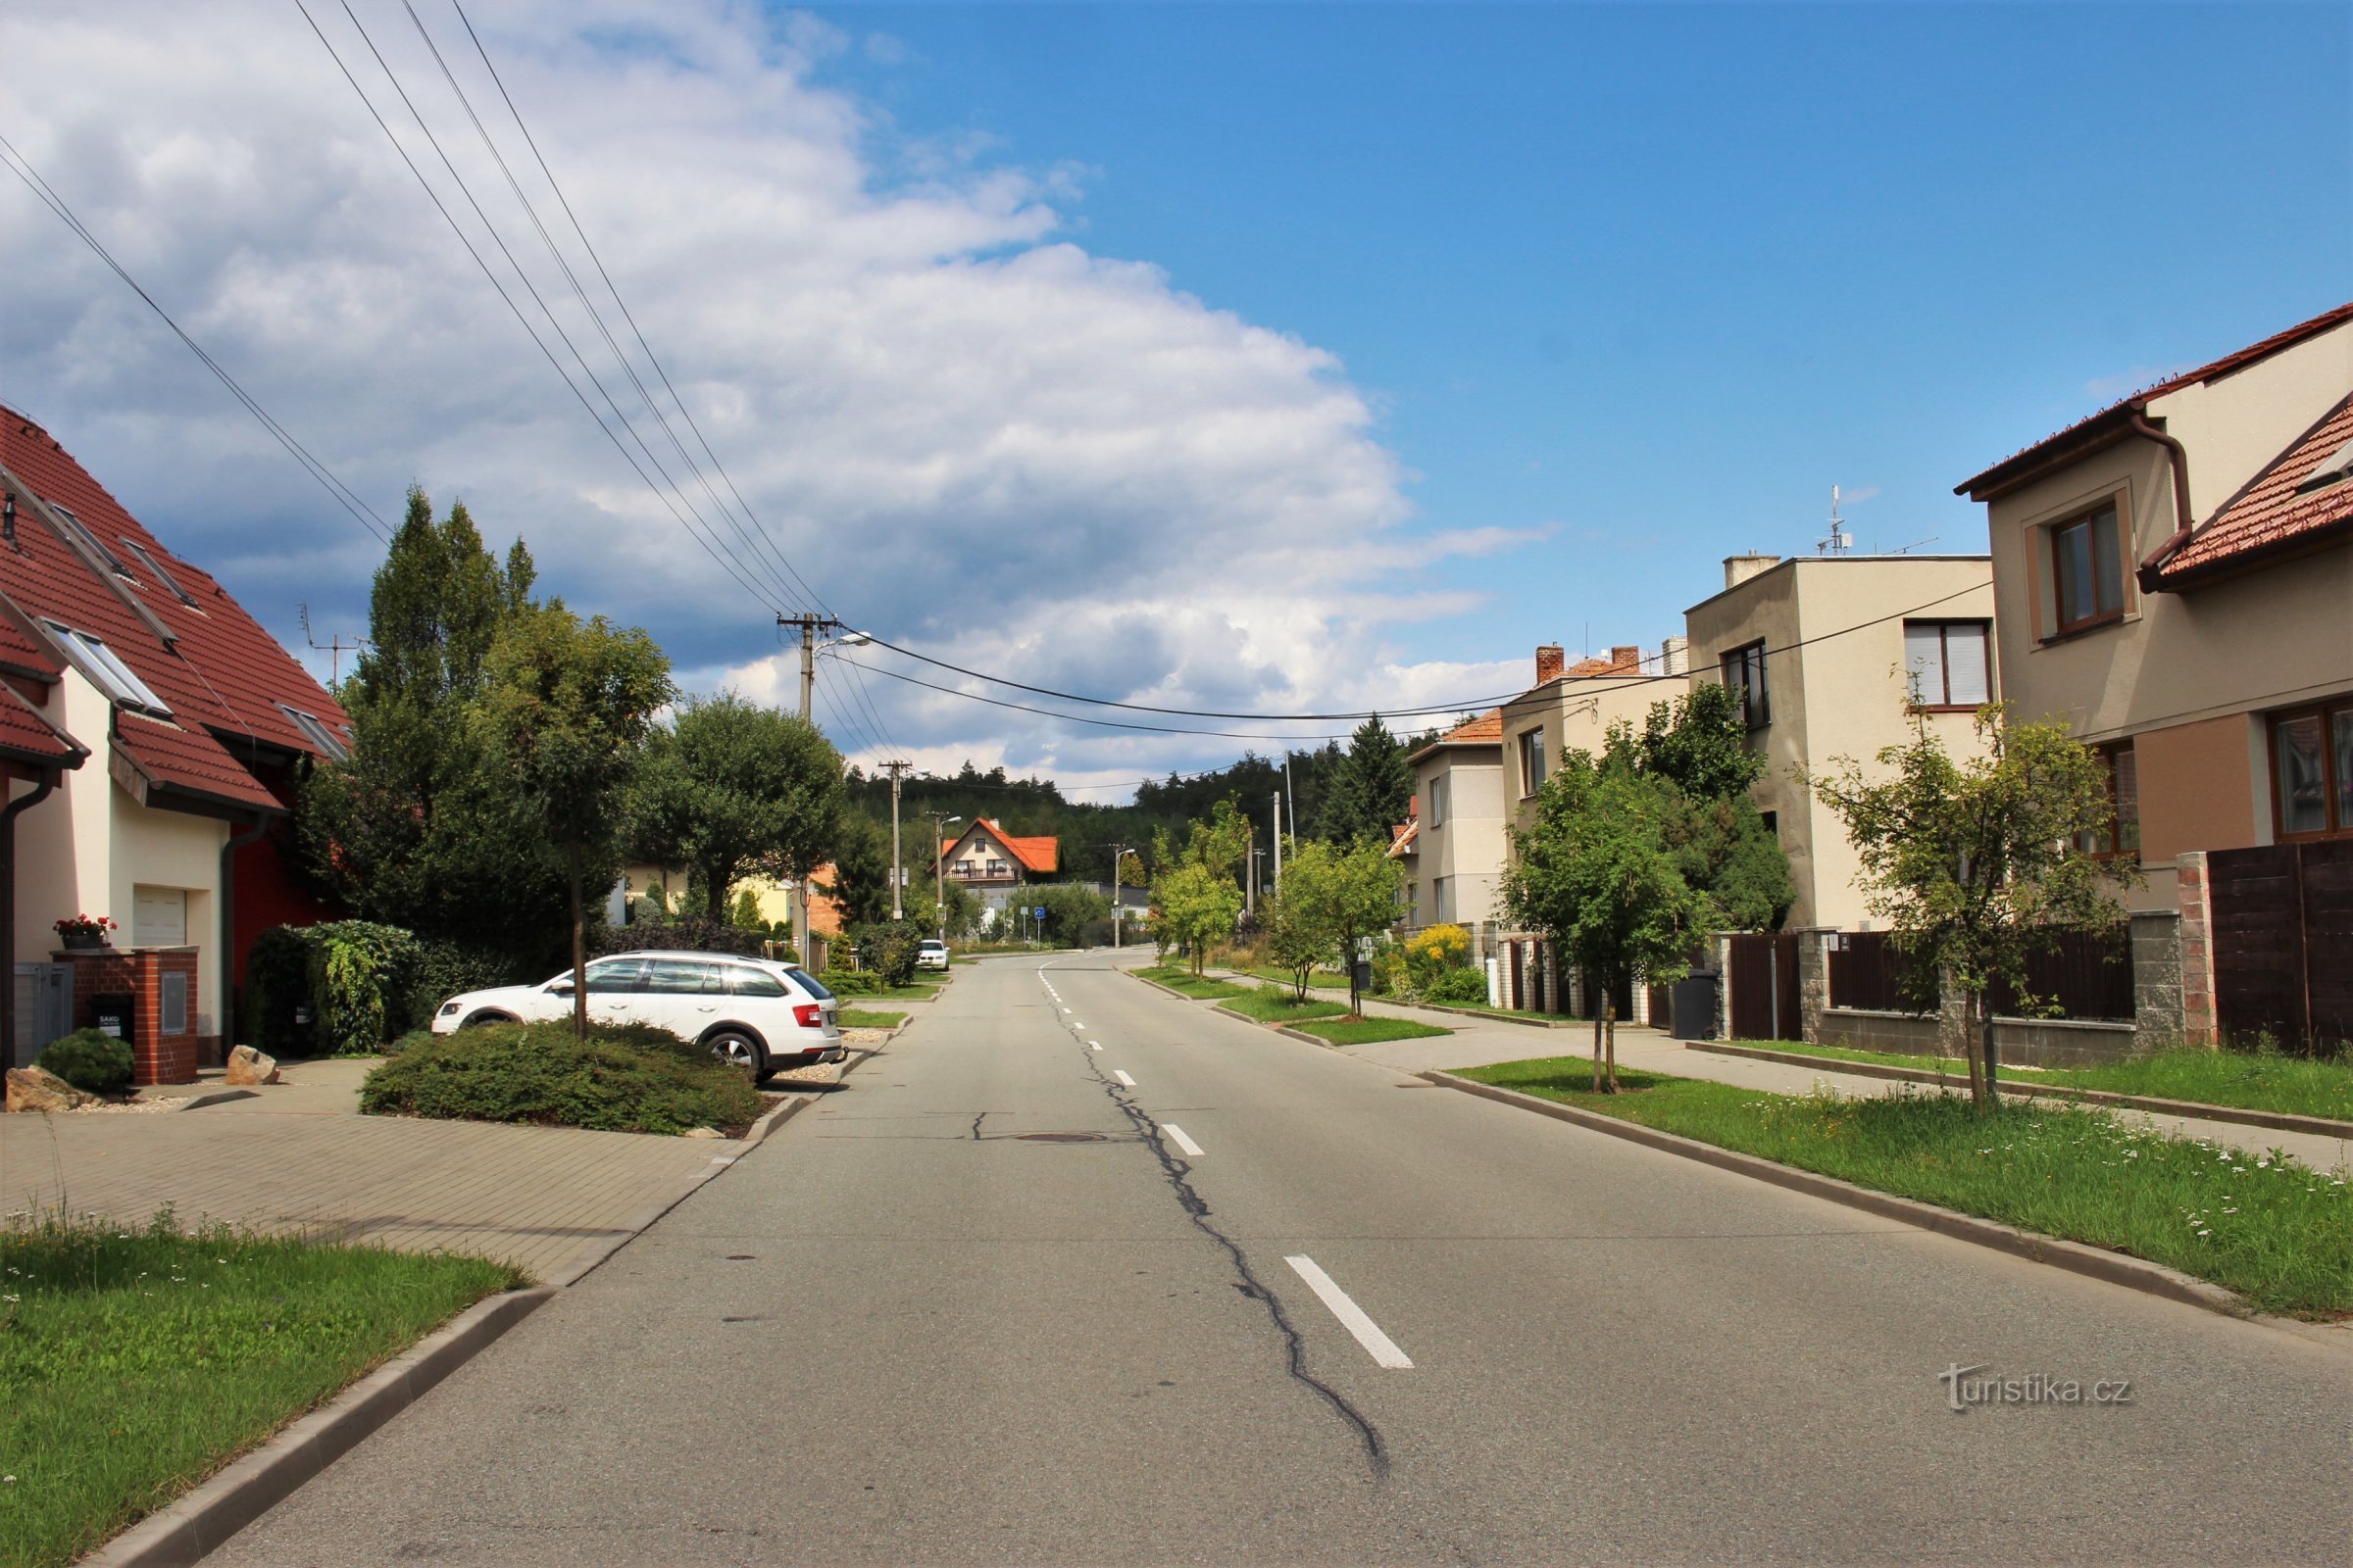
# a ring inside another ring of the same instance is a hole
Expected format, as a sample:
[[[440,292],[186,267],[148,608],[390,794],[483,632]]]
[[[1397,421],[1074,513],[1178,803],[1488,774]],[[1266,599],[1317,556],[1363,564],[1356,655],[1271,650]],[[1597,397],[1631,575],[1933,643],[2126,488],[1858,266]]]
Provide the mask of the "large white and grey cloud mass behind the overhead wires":
[[[400,127],[339,7],[313,9]],[[558,320],[642,414],[402,9],[358,9]],[[419,12],[539,195],[454,16]],[[1419,564],[1541,531],[1417,524],[1374,404],[1329,353],[1068,240],[1075,165],[1012,169],[981,139],[941,136],[885,167],[873,110],[826,87],[824,61],[887,59],[889,40],[718,0],[551,0],[475,24],[736,487],[852,623],[1162,705],[1337,710],[1518,686],[1518,661],[1405,665],[1391,628],[1475,607],[1419,592]],[[16,5],[0,49],[16,80],[42,82],[12,139],[379,512],[398,515],[409,480],[464,496],[494,541],[529,538],[546,585],[647,623],[694,679],[793,701],[795,661],[765,654],[769,607],[595,433],[299,12]],[[492,254],[433,150],[414,127],[402,139]],[[0,400],[47,421],[271,625],[292,628],[299,597],[355,625],[374,541],[14,183],[0,266]],[[1242,745],[1078,731],[864,677],[875,722],[852,679],[835,670],[821,701],[821,717],[854,708],[852,750],[887,726],[918,759],[1087,780]]]

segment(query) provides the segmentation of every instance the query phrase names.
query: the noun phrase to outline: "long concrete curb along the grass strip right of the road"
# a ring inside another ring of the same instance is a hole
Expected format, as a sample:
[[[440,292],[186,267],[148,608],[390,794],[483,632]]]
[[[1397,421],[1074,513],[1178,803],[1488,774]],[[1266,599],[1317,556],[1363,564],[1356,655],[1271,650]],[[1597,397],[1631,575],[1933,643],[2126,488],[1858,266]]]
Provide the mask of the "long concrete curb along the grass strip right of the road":
[[[2207,1312],[2221,1312],[2224,1316],[2257,1316],[2235,1291],[2224,1291],[2221,1286],[2193,1279],[2179,1269],[2169,1269],[2162,1262],[2148,1262],[2146,1258],[2132,1258],[2127,1253],[2106,1253],[2097,1246],[2085,1246],[2082,1241],[2061,1241],[2059,1237],[2040,1237],[2035,1232],[2017,1229],[1998,1220],[1979,1220],[1953,1208],[1939,1208],[1937,1204],[1922,1204],[1918,1199],[1899,1199],[1889,1192],[1873,1192],[1871,1187],[1857,1187],[1854,1182],[1838,1180],[1835,1175],[1817,1175],[1812,1171],[1800,1171],[1798,1166],[1784,1166],[1772,1159],[1760,1159],[1755,1154],[1741,1154],[1737,1150],[1722,1150],[1713,1143],[1699,1143],[1697,1138],[1682,1138],[1678,1133],[1661,1133],[1635,1121],[1621,1121],[1617,1117],[1602,1117],[1600,1112],[1579,1110],[1574,1105],[1562,1105],[1558,1100],[1541,1100],[1537,1095],[1525,1095],[1513,1088],[1497,1088],[1494,1084],[1478,1084],[1473,1079],[1454,1077],[1452,1072],[1419,1072],[1414,1074],[1440,1088],[1461,1088],[1482,1100],[1501,1100],[1504,1105],[1518,1105],[1520,1110],[1532,1110],[1539,1117],[1553,1117],[1555,1121],[1574,1121],[1577,1126],[1591,1128],[1595,1133],[1609,1133],[1612,1138],[1624,1138],[1628,1143],[1640,1143],[1666,1154],[1680,1154],[1685,1159],[1697,1159],[1704,1166],[1715,1166],[1718,1171],[1732,1171],[1737,1175],[1751,1175],[1774,1187],[1788,1187],[1791,1192],[1805,1192],[1807,1197],[1828,1199],[1833,1204],[1845,1204],[1847,1208],[1861,1208],[1864,1213],[1875,1213],[1882,1220],[1899,1220],[1904,1225],[1918,1225],[1920,1229],[1932,1229],[1958,1241],[1972,1241],[1977,1246],[1993,1248],[1998,1253],[2009,1253],[2012,1258],[2026,1258],[2028,1262],[2047,1262],[2071,1274],[2085,1274],[2089,1279],[2101,1279],[2111,1286],[2125,1286],[2127,1291],[2141,1291],[2146,1295],[2160,1295],[2165,1300],[2184,1302],[2191,1307],[2205,1307]]]

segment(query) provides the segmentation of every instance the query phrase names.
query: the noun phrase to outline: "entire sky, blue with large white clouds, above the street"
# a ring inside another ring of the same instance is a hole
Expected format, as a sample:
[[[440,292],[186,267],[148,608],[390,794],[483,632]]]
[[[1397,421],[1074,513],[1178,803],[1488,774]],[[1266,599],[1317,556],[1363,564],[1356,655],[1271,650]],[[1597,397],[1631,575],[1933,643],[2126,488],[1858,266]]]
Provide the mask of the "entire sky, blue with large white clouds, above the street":
[[[353,9],[602,355],[405,7]],[[2353,296],[2344,5],[468,9],[795,569],[1141,703],[1395,710],[1515,691],[1539,642],[1657,649],[1831,484],[1861,548],[1981,548],[1958,480]],[[449,0],[416,14],[529,183]],[[45,92],[0,129],[376,512],[464,496],[692,689],[791,703],[781,604],[621,463],[327,47],[282,0],[16,0]],[[0,270],[0,400],[299,651],[304,602],[365,625],[376,541],[12,179]],[[1096,797],[1245,745],[840,665],[816,712],[864,762]]]

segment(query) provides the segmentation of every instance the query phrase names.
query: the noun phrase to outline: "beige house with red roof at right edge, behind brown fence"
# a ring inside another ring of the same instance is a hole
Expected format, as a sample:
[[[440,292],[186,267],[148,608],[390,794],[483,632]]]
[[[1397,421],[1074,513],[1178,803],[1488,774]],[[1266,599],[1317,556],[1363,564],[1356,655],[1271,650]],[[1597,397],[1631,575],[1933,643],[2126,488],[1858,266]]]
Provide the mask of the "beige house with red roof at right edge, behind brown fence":
[[[2106,755],[2132,907],[2181,907],[2181,853],[2353,839],[2353,303],[1955,489],[2002,696]]]

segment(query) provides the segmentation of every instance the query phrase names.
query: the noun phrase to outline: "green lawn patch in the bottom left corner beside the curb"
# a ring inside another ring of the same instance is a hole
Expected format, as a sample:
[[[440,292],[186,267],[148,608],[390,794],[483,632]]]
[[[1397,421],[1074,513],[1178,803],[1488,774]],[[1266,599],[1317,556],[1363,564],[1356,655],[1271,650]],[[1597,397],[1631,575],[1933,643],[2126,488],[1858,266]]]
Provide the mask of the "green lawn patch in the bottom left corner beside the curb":
[[[45,1222],[0,1232],[0,1563],[71,1563],[522,1279],[409,1255]]]

